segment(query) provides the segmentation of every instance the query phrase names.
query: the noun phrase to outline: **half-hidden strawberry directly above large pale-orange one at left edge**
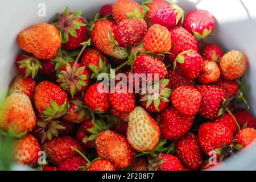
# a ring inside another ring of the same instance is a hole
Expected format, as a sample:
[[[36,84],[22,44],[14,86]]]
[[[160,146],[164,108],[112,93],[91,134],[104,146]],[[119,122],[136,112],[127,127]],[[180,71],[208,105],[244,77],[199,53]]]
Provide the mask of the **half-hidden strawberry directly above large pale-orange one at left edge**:
[[[10,86],[9,94],[24,93],[32,100],[34,98],[36,85],[35,80],[32,78],[24,78],[18,75]]]

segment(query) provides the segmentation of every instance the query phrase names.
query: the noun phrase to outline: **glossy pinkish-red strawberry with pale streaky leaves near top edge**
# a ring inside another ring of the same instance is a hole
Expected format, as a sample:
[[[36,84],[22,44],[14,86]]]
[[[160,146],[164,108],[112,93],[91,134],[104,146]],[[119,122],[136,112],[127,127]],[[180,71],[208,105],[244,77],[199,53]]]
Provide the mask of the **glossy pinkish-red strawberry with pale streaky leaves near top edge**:
[[[166,5],[159,9],[154,17],[154,24],[160,24],[168,29],[179,26],[183,23],[184,11],[175,3]]]

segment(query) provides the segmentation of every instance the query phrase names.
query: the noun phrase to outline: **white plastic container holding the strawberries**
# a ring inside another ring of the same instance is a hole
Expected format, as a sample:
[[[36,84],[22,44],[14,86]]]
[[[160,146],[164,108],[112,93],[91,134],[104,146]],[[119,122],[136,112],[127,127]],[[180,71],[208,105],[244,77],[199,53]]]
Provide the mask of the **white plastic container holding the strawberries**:
[[[0,98],[6,96],[10,82],[16,71],[14,60],[20,52],[16,36],[21,30],[35,23],[50,22],[55,14],[66,6],[72,11],[82,10],[86,19],[100,10],[102,5],[115,0],[9,0],[2,1],[1,44],[0,44]],[[142,2],[142,1],[138,1]],[[210,11],[216,18],[216,28],[207,41],[218,43],[224,50],[237,49],[249,59],[249,68],[244,77],[245,95],[256,114],[256,1],[254,0],[177,0],[186,12],[192,9]],[[45,8],[45,9],[44,9]],[[45,11],[44,11],[45,10]],[[45,14],[44,14],[45,13]],[[256,145],[243,150],[236,158],[222,163],[219,170],[256,170]]]

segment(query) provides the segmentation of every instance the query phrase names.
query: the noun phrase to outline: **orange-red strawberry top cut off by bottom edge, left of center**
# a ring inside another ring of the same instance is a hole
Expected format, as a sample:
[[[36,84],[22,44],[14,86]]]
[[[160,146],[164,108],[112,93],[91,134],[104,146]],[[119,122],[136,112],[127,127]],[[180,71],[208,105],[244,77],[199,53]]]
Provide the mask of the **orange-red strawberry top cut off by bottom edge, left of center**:
[[[116,171],[116,169],[108,160],[99,159],[94,161],[87,171]]]

